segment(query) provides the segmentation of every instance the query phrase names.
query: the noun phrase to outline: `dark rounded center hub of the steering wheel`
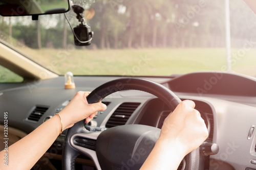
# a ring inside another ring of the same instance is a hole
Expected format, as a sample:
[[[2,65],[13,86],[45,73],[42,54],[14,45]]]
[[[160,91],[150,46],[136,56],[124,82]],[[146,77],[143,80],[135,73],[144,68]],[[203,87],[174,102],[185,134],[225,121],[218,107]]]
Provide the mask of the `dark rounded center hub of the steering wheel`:
[[[99,164],[102,169],[139,169],[159,135],[160,129],[144,125],[123,125],[103,131],[96,142]]]

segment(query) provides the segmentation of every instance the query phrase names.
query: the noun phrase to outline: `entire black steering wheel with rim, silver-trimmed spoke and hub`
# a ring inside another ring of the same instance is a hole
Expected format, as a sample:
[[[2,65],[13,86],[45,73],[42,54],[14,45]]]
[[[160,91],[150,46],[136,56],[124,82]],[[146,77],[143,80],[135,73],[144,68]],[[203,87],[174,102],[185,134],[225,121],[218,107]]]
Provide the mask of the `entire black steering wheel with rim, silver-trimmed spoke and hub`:
[[[88,103],[101,101],[105,96],[121,90],[141,90],[161,99],[173,111],[181,100],[172,91],[153,81],[123,78],[107,82],[87,97]],[[97,169],[139,169],[151,153],[160,129],[145,125],[123,125],[103,132],[89,132],[84,120],[68,129],[62,151],[62,169],[74,170],[75,159],[84,154]],[[199,149],[183,159],[182,169],[199,169]]]

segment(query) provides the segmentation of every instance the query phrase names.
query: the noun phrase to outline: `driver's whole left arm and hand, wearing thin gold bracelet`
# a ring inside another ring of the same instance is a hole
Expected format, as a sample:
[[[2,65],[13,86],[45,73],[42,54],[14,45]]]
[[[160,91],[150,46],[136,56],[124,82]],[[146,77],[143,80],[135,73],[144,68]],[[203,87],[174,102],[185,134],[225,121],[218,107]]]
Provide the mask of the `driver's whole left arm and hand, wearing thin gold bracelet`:
[[[0,163],[0,169],[31,169],[42,155],[51,147],[62,127],[62,131],[72,127],[80,120],[90,122],[97,111],[106,109],[102,103],[88,104],[86,97],[90,92],[79,91],[69,104],[45,123],[36,128],[29,135],[12,144],[8,149],[8,166]],[[71,114],[71,113],[75,113]],[[5,152],[0,152],[4,158]]]

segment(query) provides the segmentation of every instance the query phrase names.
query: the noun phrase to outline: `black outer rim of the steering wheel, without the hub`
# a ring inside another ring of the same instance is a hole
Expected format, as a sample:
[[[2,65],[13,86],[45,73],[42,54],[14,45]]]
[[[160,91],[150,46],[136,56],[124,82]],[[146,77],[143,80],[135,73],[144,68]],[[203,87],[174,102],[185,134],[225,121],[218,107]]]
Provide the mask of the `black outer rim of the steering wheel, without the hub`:
[[[161,84],[155,83],[153,81],[139,79],[139,78],[122,78],[122,79],[116,79],[116,80],[107,82],[97,87],[95,90],[93,90],[87,97],[87,101],[89,104],[97,103],[97,102],[100,102],[102,99],[104,99],[105,96],[108,96],[114,92],[122,91],[122,90],[140,90],[140,91],[149,92],[157,96],[159,99],[161,99],[165,104],[167,104],[167,106],[169,106],[169,108],[172,111],[181,102],[178,96],[174,94],[172,91],[170,91],[168,88],[162,86]],[[62,150],[62,169],[65,169],[65,170],[75,169],[75,159],[78,155],[80,155],[80,152],[77,150],[77,147],[74,147],[74,143],[72,140],[74,140],[75,134],[78,134],[79,136],[79,134],[81,133],[88,133],[88,131],[84,128],[84,120],[77,122],[73,127],[68,129],[65,137],[65,143],[63,145],[63,150]],[[96,137],[94,137],[95,140],[97,139],[98,135],[99,134],[96,134]],[[90,154],[88,156],[94,160],[96,152],[93,153],[93,155],[94,155],[94,158]],[[97,168],[100,168],[100,167],[97,167]],[[185,167],[183,168],[185,170],[199,169],[199,150],[198,149],[186,155]]]

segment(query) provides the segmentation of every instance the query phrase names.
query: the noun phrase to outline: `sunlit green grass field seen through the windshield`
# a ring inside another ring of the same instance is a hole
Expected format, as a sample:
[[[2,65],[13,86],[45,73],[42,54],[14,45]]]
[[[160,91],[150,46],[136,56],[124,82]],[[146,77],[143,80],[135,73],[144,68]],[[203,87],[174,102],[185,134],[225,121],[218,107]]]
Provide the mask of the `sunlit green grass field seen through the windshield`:
[[[23,47],[23,53],[45,67],[74,75],[169,76],[194,71],[221,71],[226,66],[224,48],[144,48],[124,50],[70,50]],[[236,54],[240,49],[233,49]],[[256,49],[232,60],[232,71],[256,75]]]

